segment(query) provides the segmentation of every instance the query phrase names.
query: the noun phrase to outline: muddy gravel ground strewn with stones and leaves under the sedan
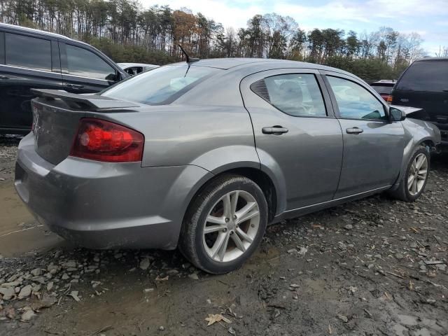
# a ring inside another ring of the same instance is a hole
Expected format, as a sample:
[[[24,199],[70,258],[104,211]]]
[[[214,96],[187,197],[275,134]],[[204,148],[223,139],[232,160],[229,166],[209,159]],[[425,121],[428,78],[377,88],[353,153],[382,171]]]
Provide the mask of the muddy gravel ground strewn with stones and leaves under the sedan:
[[[0,139],[0,191],[17,144]],[[448,335],[448,156],[432,164],[417,202],[377,195],[272,225],[222,276],[177,251],[0,256],[0,335]]]

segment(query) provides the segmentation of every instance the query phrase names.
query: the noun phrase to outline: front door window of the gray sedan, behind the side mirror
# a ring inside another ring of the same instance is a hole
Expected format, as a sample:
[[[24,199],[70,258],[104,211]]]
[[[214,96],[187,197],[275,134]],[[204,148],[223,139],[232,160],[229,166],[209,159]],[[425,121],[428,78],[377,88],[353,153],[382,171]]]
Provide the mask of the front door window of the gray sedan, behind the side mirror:
[[[335,93],[341,118],[386,120],[384,106],[361,85],[351,80],[327,76]]]

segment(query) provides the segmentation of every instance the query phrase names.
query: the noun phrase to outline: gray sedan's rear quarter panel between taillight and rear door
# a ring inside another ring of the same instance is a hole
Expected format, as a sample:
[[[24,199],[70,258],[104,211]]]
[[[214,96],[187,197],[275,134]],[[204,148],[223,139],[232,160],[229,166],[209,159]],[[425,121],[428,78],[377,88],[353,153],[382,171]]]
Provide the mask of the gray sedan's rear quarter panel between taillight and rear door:
[[[148,106],[138,113],[94,113],[144,134],[143,167],[197,165],[209,172],[260,167],[243,106]]]

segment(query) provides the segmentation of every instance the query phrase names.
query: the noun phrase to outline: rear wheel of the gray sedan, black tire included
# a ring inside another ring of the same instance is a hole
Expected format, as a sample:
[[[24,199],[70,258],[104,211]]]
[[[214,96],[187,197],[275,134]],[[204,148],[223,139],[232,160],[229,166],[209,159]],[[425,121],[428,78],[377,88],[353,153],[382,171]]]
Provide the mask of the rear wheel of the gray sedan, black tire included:
[[[267,202],[260,187],[244,176],[221,176],[193,200],[179,248],[205,272],[231,272],[260,245],[266,225]]]

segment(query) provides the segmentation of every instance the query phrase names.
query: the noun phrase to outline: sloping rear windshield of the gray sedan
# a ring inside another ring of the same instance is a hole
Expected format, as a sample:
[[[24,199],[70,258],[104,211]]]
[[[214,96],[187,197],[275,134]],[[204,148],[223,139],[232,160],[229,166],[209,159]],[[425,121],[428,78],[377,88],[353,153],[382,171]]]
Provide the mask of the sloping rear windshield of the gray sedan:
[[[161,66],[102,92],[102,96],[148,105],[169,104],[220,69],[205,66]]]

